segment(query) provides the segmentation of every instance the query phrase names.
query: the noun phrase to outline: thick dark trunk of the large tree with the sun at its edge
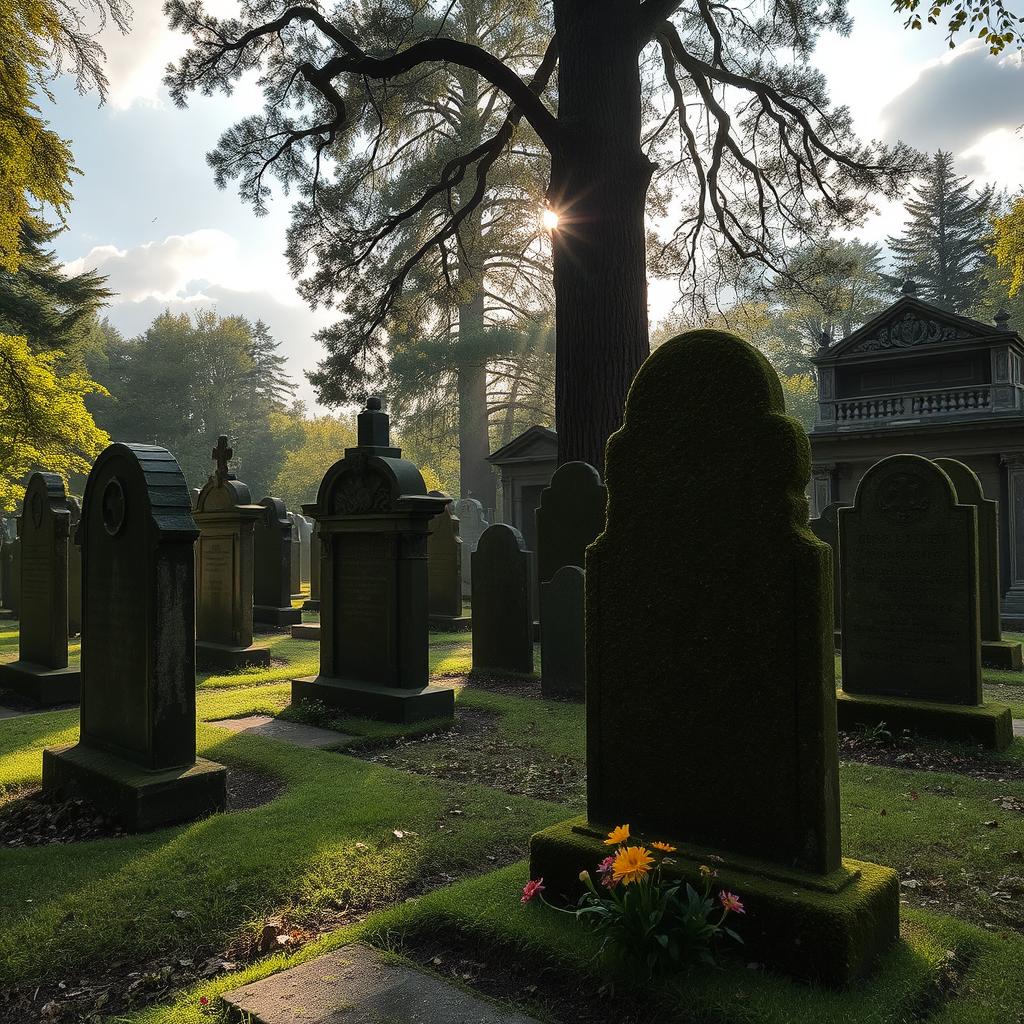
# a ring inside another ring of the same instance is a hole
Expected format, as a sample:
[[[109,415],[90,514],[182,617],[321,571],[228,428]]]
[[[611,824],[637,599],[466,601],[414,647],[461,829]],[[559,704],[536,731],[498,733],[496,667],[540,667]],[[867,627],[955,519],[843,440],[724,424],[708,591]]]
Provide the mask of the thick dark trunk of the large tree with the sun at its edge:
[[[640,145],[637,5],[560,0],[552,154],[555,411],[559,463],[604,471],[604,445],[647,357],[644,211],[653,167]]]

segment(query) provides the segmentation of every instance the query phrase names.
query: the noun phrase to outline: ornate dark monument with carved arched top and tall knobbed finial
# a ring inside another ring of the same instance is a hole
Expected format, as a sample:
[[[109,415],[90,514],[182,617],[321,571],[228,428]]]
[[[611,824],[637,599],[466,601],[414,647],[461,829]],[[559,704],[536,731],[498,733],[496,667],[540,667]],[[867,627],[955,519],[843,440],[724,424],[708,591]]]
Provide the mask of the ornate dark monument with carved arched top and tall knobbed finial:
[[[321,669],[292,700],[322,700],[390,722],[451,718],[450,688],[429,684],[427,538],[445,501],[391,447],[379,398],[358,416],[358,444],[321,481]]]

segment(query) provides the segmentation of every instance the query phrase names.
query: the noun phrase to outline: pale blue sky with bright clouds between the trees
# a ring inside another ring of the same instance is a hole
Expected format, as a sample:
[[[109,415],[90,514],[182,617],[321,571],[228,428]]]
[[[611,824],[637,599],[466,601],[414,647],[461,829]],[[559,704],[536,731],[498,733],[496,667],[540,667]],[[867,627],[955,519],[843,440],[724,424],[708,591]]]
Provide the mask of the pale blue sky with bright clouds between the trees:
[[[214,13],[230,6],[208,3]],[[79,96],[66,80],[56,84],[55,103],[43,105],[53,128],[71,139],[82,171],[57,254],[70,270],[109,276],[118,295],[106,314],[127,335],[165,308],[263,319],[282,343],[299,396],[315,410],[304,375],[322,354],[312,335],[334,313],[310,310],[295,293],[284,258],[290,201],[279,197],[256,217],[230,186],[216,187],[205,159],[225,128],[258,110],[259,94],[243,84],[231,97],[197,96],[187,110],[175,108],[161,79],[184,40],[167,28],[159,0],[137,0],[131,34],[100,37],[111,82],[104,105],[95,93]],[[853,32],[823,38],[815,63],[833,99],[849,105],[861,137],[948,150],[961,173],[1019,190],[1020,58],[990,57],[976,41],[950,51],[940,29],[904,31],[888,0],[850,0],[850,10]],[[859,237],[881,242],[902,219],[898,203],[885,205]],[[652,323],[669,312],[674,289],[651,283]]]

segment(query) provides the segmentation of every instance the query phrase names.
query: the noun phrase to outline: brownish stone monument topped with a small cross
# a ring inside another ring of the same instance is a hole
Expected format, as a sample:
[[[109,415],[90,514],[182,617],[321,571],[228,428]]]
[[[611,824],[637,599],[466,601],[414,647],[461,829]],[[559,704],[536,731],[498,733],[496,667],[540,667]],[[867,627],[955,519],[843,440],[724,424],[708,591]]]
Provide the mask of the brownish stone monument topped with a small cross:
[[[253,571],[256,520],[249,487],[228,468],[233,452],[221,434],[212,452],[216,469],[196,501],[196,665],[240,669],[270,664],[268,647],[253,645]]]

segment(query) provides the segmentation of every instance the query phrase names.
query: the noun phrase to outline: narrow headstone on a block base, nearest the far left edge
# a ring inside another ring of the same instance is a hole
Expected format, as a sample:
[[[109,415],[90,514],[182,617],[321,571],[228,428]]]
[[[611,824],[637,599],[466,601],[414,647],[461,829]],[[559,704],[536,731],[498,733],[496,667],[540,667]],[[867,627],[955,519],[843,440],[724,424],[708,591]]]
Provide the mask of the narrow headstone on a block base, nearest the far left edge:
[[[0,687],[44,707],[77,702],[82,676],[68,667],[68,544],[71,510],[56,473],[33,473],[18,523],[22,613],[17,660],[0,666]]]

